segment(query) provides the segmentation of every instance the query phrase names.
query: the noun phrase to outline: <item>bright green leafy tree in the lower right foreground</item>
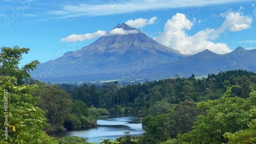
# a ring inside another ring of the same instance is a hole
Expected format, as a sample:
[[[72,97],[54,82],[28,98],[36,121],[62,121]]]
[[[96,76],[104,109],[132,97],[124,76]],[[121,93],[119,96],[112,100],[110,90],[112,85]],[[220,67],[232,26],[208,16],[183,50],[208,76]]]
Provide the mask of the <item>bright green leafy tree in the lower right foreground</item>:
[[[201,102],[198,108],[206,113],[197,117],[194,130],[180,135],[179,143],[221,143],[226,132],[234,133],[247,129],[247,123],[256,118],[256,91],[250,97],[230,98],[231,88],[219,100]]]

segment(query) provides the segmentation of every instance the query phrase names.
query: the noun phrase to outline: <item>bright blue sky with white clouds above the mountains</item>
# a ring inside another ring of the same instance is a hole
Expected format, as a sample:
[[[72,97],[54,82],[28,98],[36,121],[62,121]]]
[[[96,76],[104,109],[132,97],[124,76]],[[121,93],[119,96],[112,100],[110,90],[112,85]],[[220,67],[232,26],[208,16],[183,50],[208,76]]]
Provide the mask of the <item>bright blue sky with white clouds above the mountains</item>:
[[[256,49],[255,0],[0,0],[0,6],[0,45],[30,48],[20,65],[81,49],[123,22],[184,54]]]

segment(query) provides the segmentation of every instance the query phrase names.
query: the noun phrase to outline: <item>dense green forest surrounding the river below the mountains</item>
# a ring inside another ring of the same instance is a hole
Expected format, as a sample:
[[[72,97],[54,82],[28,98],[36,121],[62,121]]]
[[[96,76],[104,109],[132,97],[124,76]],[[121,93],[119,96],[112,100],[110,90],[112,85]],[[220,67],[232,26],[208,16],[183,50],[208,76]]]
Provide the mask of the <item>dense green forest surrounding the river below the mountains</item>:
[[[93,127],[98,115],[116,113],[143,117],[145,133],[134,139],[126,132],[102,143],[256,143],[256,74],[251,71],[126,86],[57,85],[30,78],[38,61],[18,67],[28,52],[14,46],[2,47],[0,53],[0,143],[88,143],[79,137],[58,139],[45,131]],[[9,112],[7,123],[2,123],[4,112]]]

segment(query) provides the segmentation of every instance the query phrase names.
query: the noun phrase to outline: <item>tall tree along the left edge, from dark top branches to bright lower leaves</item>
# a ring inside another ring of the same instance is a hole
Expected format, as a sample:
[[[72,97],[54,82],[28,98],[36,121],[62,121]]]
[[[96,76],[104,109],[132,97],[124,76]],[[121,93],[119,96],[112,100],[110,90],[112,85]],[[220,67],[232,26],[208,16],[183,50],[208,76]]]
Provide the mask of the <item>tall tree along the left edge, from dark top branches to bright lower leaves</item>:
[[[3,130],[7,127],[8,136],[7,139],[1,137],[0,143],[57,143],[54,137],[49,137],[44,132],[48,126],[46,112],[33,106],[37,98],[32,97],[30,91],[38,86],[21,84],[24,79],[30,77],[29,70],[33,70],[39,63],[33,61],[22,69],[18,68],[22,54],[27,54],[28,51],[28,48],[19,49],[14,46],[13,49],[2,47],[0,53],[0,92],[8,95],[4,98],[4,95],[0,94],[0,122],[6,122],[4,111],[9,112],[8,123],[0,123],[0,135],[5,134]],[[8,108],[2,107],[7,103]]]

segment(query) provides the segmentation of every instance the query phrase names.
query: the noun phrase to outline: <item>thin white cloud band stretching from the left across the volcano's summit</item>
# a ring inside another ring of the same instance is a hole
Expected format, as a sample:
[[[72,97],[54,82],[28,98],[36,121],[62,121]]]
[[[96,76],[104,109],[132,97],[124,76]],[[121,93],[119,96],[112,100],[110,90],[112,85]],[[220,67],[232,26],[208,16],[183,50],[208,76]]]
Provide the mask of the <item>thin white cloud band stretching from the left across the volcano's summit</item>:
[[[109,33],[99,30],[95,33],[87,33],[84,35],[72,34],[66,38],[61,38],[60,41],[77,42],[77,41],[90,40],[90,39],[94,39],[94,38],[101,37],[101,36],[128,35],[128,34],[137,34],[137,33],[139,33],[138,30],[126,31],[126,30],[123,30],[122,28],[115,28],[115,29],[111,30]]]

